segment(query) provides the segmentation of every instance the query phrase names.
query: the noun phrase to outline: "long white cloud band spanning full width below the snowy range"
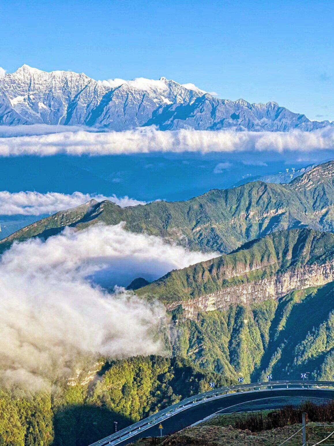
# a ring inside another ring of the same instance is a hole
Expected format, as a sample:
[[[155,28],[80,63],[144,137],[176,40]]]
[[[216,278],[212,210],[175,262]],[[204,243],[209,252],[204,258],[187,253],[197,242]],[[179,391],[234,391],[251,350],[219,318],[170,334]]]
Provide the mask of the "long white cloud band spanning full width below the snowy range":
[[[0,127],[1,135],[1,127]],[[334,148],[334,126],[302,132],[159,131],[139,128],[124,132],[67,131],[49,135],[0,138],[0,156],[113,155],[151,152],[310,151]]]

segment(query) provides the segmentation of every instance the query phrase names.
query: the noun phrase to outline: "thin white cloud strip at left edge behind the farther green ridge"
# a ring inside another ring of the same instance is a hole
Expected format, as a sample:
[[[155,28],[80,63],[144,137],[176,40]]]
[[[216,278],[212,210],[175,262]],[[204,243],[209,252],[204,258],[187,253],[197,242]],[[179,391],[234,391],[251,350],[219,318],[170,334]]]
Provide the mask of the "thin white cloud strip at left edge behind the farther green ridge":
[[[116,195],[106,197],[104,195],[82,194],[61,194],[58,192],[16,192],[7,190],[0,191],[0,215],[41,215],[63,211],[71,207],[79,206],[94,198],[97,201],[110,200],[118,206],[137,206],[145,204],[143,201],[135,200],[127,196],[118,198]]]

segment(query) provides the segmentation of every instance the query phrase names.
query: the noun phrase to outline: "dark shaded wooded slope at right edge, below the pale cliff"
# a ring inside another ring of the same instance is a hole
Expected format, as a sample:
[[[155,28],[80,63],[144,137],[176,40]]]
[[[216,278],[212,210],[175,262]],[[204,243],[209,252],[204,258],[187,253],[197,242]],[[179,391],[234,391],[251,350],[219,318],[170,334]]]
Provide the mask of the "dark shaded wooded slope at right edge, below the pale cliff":
[[[334,374],[334,283],[293,291],[279,301],[269,343],[254,378],[310,372],[316,380]]]

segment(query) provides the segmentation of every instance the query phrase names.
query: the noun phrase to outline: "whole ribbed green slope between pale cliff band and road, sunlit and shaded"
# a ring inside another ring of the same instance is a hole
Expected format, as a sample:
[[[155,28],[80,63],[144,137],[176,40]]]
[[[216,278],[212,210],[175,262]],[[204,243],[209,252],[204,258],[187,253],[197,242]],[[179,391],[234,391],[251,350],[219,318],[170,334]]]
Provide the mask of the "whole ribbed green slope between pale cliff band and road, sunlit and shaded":
[[[181,306],[180,306],[181,307]],[[173,311],[175,351],[233,380],[331,380],[334,368],[334,282],[293,291],[279,301],[229,306],[186,318]]]

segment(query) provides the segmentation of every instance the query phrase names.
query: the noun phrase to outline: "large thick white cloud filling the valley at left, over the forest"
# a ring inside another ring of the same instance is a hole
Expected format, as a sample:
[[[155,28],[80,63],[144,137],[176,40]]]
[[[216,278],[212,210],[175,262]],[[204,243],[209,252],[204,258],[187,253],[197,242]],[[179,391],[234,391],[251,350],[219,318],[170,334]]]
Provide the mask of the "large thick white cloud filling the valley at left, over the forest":
[[[87,276],[134,265],[159,277],[208,254],[188,252],[124,224],[66,228],[45,242],[14,244],[0,259],[0,379],[38,386],[69,376],[78,355],[110,358],[163,353],[157,332],[164,309],[130,293],[108,294]],[[133,278],[133,276],[131,276]]]

